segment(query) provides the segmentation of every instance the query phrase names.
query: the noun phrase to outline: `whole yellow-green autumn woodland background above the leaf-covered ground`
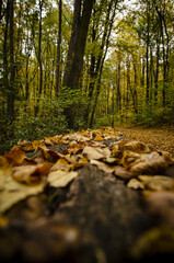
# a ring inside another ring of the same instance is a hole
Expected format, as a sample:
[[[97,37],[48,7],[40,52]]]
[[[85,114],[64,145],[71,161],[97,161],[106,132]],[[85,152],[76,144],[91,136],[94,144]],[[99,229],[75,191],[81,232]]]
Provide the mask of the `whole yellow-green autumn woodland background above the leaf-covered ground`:
[[[0,0],[0,151],[174,119],[173,0]]]

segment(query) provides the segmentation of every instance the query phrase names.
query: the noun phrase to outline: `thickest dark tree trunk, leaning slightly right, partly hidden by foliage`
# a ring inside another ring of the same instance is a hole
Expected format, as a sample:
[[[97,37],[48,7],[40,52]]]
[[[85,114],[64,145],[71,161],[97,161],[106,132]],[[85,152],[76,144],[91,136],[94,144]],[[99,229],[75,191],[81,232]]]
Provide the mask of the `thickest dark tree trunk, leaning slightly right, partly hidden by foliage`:
[[[85,42],[88,36],[89,23],[92,13],[94,0],[76,0],[74,1],[74,15],[72,22],[72,33],[70,38],[68,58],[63,76],[62,85],[69,88],[71,91],[79,90],[80,78],[83,68],[83,56],[85,49]],[[83,3],[83,4],[82,4]],[[69,128],[74,127],[76,105],[65,108],[65,115]]]

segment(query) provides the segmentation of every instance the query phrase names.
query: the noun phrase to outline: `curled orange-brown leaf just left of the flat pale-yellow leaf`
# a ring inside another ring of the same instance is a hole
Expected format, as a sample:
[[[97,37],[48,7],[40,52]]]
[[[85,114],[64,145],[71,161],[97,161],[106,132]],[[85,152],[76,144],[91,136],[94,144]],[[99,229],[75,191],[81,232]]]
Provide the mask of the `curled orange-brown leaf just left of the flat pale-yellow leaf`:
[[[21,183],[36,185],[43,181],[49,172],[50,165],[45,162],[36,165],[22,165],[13,168],[13,178]]]

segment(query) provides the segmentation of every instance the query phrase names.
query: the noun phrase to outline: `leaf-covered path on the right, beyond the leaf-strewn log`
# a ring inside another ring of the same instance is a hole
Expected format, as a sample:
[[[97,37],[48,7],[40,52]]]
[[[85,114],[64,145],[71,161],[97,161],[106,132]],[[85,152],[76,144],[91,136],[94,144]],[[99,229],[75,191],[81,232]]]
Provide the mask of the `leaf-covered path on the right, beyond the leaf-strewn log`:
[[[128,140],[140,140],[152,149],[169,151],[174,156],[174,126],[144,128],[144,127],[115,127]]]

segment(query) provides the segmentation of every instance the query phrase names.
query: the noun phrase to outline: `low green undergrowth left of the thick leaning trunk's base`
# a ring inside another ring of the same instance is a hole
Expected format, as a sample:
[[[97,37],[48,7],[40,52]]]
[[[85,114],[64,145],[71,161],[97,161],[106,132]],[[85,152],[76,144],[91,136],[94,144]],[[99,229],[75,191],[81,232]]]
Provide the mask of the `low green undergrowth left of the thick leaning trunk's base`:
[[[67,123],[62,115],[60,102],[57,100],[39,101],[39,114],[34,116],[28,107],[19,103],[16,118],[1,119],[0,153],[10,150],[20,139],[35,140],[66,132]]]

